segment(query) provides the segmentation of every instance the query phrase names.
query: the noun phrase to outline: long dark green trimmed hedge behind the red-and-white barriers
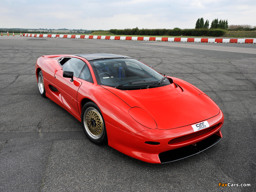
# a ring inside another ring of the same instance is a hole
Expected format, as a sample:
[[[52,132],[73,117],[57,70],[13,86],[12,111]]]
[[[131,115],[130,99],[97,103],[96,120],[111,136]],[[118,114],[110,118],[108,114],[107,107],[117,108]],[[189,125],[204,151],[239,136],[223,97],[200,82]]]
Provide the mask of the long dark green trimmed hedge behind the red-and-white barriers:
[[[139,36],[223,36],[223,29],[110,29],[115,35],[139,35]]]

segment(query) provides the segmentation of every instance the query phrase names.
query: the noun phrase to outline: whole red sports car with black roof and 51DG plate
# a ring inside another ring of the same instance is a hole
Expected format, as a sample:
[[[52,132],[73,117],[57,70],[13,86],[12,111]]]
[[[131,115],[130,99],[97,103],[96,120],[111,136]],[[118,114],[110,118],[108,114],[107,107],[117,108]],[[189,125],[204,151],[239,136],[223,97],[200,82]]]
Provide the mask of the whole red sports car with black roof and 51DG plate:
[[[202,91],[131,57],[44,55],[39,92],[81,121],[93,143],[149,163],[195,155],[222,138],[224,116]]]

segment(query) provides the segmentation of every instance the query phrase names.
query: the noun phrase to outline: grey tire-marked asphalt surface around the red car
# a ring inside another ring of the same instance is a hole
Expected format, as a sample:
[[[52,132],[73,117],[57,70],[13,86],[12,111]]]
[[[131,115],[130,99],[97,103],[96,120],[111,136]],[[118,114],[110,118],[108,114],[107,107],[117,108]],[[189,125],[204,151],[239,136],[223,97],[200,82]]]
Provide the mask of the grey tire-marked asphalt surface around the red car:
[[[38,57],[79,53],[131,56],[195,85],[223,111],[223,139],[168,164],[91,143],[36,83]],[[0,191],[256,191],[255,74],[256,44],[0,36]]]

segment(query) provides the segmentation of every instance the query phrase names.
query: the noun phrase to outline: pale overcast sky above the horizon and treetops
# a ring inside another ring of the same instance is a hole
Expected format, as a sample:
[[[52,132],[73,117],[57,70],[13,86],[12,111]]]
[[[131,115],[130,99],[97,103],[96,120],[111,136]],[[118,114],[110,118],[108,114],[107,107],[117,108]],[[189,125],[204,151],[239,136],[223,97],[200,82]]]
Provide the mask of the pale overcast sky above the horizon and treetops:
[[[1,0],[0,28],[195,28],[198,18],[256,26],[255,0]]]

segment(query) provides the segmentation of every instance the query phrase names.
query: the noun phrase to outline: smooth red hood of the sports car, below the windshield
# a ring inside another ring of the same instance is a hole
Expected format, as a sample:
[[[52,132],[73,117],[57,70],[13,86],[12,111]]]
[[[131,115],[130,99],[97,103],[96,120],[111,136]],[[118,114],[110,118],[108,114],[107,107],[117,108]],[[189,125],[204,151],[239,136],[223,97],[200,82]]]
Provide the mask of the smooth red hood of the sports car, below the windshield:
[[[131,108],[139,107],[148,112],[155,120],[157,129],[195,124],[219,114],[219,107],[203,92],[183,80],[173,80],[174,83],[167,86],[141,90],[122,91],[113,87],[102,87]]]

